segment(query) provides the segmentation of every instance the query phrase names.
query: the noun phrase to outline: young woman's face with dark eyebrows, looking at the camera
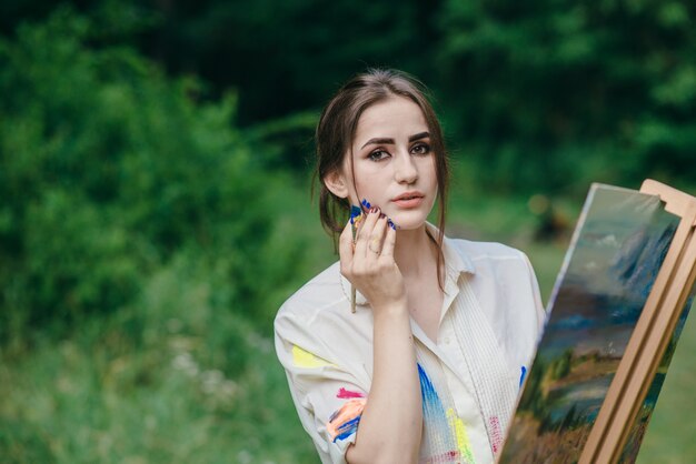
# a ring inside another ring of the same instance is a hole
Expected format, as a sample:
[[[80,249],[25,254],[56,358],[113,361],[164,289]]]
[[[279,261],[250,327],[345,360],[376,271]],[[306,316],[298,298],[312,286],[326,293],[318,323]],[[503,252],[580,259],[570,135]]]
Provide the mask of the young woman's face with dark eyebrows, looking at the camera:
[[[367,108],[352,141],[355,183],[350,161],[347,153],[342,176],[352,204],[366,199],[405,230],[425,223],[437,176],[428,124],[416,103],[394,97]]]

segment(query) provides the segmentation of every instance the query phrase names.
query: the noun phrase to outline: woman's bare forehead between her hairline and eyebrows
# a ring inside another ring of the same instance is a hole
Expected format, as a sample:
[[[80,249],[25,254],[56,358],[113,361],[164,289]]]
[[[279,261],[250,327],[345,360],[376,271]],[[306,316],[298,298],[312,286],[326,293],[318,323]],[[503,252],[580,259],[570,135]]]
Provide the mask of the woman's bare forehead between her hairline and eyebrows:
[[[404,97],[390,97],[368,107],[356,129],[355,141],[412,135],[428,130],[426,118],[415,102]]]

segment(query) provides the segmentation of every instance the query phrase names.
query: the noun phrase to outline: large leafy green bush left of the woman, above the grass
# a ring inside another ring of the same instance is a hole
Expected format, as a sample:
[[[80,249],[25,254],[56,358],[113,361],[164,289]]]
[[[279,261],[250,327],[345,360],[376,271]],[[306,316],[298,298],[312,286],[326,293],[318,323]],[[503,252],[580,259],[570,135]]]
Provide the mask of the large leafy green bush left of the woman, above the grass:
[[[0,42],[3,341],[129,304],[181,250],[219,275],[211,297],[238,310],[276,294],[278,281],[260,279],[271,262],[280,281],[299,265],[281,246],[291,241],[271,243],[280,174],[261,171],[235,129],[235,94],[202,103],[195,79],[90,48],[98,34],[59,10]]]

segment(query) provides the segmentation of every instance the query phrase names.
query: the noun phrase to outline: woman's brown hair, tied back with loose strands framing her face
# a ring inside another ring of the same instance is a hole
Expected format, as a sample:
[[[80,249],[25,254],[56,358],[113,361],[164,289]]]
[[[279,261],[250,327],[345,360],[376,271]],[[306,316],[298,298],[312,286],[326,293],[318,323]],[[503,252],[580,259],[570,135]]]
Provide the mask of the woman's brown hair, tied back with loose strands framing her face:
[[[334,238],[342,231],[348,220],[349,201],[331,193],[324,179],[336,170],[340,170],[346,153],[352,152],[352,139],[362,112],[370,105],[390,97],[404,97],[416,103],[422,111],[430,132],[430,147],[435,153],[435,172],[438,185],[439,233],[436,243],[439,249],[438,280],[441,285],[440,264],[444,261],[443,236],[445,233],[449,168],[443,129],[428,100],[428,91],[422,83],[411,75],[396,70],[368,69],[344,84],[321,112],[315,134],[317,148],[315,175],[319,178],[320,183],[319,214],[321,224]],[[352,163],[350,165],[352,169]]]

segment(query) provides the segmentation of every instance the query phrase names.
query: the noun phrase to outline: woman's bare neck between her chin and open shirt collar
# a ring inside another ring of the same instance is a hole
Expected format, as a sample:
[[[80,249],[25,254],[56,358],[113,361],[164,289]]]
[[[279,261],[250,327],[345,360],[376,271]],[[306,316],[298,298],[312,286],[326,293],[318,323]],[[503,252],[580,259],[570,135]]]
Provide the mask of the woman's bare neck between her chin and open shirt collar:
[[[406,279],[437,269],[437,245],[428,236],[425,224],[418,229],[397,232],[394,260]]]

